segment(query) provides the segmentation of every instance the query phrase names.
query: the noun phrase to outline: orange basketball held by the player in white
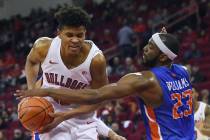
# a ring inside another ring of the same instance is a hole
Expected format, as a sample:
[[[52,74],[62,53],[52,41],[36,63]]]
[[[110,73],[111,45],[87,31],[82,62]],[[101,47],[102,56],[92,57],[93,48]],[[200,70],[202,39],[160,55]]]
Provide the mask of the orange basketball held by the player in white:
[[[52,122],[48,113],[53,112],[52,104],[42,97],[25,98],[18,104],[18,118],[29,131],[38,131]]]

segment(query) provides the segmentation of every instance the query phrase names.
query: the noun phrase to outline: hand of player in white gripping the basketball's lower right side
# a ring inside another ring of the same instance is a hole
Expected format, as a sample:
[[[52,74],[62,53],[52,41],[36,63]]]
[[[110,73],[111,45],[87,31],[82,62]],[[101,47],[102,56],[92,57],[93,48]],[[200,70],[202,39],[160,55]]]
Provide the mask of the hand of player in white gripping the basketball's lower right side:
[[[39,133],[46,133],[58,126],[61,122],[64,121],[64,113],[62,112],[57,112],[57,113],[50,113],[49,114],[51,117],[54,118],[53,122],[50,124],[47,124],[46,126],[42,127],[39,129]]]

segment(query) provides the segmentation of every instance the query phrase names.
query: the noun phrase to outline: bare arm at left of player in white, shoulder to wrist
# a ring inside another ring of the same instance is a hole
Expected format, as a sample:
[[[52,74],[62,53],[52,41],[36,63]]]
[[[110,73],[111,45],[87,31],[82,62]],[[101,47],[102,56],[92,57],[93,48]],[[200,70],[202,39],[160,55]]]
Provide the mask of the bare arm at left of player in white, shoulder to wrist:
[[[47,55],[50,43],[51,39],[47,37],[37,39],[27,56],[25,71],[28,89],[35,88],[40,64],[44,61]]]

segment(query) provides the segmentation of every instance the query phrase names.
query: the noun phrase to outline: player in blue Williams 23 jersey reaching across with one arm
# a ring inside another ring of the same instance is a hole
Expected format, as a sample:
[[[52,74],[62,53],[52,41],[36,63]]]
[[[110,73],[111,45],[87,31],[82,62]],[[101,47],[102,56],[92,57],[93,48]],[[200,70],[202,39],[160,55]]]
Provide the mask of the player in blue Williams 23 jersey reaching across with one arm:
[[[17,91],[16,96],[50,96],[69,104],[94,104],[135,95],[148,140],[194,140],[192,87],[187,70],[173,64],[178,51],[179,42],[172,34],[155,33],[143,49],[146,71],[127,74],[99,89],[35,89]]]

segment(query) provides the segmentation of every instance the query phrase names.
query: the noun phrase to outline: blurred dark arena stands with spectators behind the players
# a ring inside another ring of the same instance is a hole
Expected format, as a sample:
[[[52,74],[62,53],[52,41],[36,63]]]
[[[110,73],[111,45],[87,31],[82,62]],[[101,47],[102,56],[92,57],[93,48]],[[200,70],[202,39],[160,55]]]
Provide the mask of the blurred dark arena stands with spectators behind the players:
[[[177,63],[191,70],[200,100],[210,103],[209,0],[0,0],[0,140],[31,139],[18,121],[13,93],[26,88],[24,64],[33,42],[56,36],[53,14],[67,5],[81,6],[91,15],[87,39],[103,50],[110,82],[144,69],[142,48],[165,26],[181,42]],[[98,116],[128,140],[145,140],[135,98],[110,102]]]

